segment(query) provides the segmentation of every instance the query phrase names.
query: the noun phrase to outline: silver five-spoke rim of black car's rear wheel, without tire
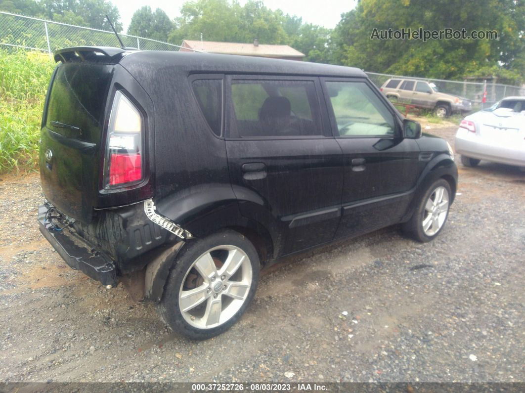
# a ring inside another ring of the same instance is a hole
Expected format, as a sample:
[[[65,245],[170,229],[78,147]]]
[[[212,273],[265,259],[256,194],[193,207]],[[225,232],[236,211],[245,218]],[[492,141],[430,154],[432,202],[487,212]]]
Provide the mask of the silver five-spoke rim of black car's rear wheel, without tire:
[[[206,251],[182,281],[178,305],[184,320],[199,329],[224,324],[246,301],[252,275],[251,262],[240,248],[225,245]]]

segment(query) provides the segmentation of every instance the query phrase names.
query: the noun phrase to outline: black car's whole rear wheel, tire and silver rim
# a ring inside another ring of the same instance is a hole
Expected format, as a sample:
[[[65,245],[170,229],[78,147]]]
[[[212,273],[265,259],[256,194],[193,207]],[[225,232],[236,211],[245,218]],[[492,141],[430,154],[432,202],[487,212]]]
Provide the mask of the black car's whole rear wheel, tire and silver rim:
[[[188,338],[217,336],[243,315],[258,279],[257,251],[238,232],[194,240],[177,256],[160,314],[174,332]]]

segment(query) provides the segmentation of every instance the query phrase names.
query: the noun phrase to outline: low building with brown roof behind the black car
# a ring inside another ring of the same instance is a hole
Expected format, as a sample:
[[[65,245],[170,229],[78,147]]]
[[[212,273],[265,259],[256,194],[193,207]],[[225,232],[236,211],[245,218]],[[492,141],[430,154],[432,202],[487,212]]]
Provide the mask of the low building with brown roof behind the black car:
[[[259,45],[257,39],[253,44],[242,43],[219,43],[216,41],[198,41],[185,39],[182,41],[182,52],[201,50],[208,53],[220,53],[225,55],[242,55],[270,57],[273,59],[302,60],[304,54],[288,45]]]

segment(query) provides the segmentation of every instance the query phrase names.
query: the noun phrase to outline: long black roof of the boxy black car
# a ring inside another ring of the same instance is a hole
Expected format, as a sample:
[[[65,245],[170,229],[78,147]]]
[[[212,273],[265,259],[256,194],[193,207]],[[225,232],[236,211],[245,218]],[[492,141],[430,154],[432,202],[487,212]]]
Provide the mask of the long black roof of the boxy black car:
[[[144,66],[171,68],[177,72],[268,73],[327,77],[366,77],[352,67],[332,66],[297,60],[268,59],[253,56],[219,55],[196,52],[133,51],[123,56],[125,68]]]

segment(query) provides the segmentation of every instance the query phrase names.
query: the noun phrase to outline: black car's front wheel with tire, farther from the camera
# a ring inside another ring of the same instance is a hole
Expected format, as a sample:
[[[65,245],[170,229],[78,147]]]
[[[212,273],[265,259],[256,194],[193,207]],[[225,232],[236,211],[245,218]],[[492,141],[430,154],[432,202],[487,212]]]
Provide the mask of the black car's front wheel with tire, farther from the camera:
[[[403,224],[404,232],[422,243],[433,240],[445,226],[451,195],[447,180],[433,183],[419,200],[412,218]]]

